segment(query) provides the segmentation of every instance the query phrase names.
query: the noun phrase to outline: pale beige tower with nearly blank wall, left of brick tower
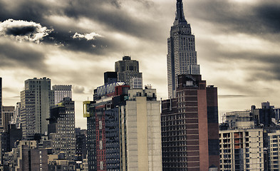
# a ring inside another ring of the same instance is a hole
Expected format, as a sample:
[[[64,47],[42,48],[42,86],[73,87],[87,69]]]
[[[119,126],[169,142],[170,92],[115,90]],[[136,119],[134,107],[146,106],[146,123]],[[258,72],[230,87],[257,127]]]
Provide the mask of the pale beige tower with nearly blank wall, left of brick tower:
[[[150,87],[128,90],[120,106],[121,165],[128,171],[162,170],[160,101]]]

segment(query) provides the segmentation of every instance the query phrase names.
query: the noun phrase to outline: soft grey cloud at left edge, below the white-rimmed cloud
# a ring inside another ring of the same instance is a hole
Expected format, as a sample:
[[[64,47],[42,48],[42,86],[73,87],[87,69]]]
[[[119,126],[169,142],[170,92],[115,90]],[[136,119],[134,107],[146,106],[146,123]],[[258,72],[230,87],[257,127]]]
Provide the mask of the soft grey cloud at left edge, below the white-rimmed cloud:
[[[46,71],[43,63],[45,56],[28,46],[17,43],[9,43],[0,40],[0,66],[2,68],[32,68],[38,71]]]

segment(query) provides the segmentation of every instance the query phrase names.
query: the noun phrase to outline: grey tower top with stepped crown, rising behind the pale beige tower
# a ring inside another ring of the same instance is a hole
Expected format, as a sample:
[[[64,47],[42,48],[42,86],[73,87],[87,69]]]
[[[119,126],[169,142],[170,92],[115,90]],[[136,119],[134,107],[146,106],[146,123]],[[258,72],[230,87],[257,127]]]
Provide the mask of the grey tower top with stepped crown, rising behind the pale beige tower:
[[[125,82],[127,85],[132,85],[133,78],[140,78],[137,81],[142,88],[142,73],[139,72],[139,63],[136,60],[131,60],[130,56],[124,56],[123,61],[115,62],[115,72],[118,73],[118,81]],[[140,83],[139,83],[140,82]],[[135,84],[135,83],[134,83]]]

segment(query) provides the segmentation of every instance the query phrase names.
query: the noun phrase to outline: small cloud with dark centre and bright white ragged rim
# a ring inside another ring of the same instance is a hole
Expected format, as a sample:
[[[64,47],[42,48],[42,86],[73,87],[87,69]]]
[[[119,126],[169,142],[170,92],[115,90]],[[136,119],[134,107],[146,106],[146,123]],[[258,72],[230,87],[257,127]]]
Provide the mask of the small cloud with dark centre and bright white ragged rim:
[[[10,36],[18,41],[39,43],[43,37],[53,31],[33,21],[8,19],[0,23],[0,36]]]

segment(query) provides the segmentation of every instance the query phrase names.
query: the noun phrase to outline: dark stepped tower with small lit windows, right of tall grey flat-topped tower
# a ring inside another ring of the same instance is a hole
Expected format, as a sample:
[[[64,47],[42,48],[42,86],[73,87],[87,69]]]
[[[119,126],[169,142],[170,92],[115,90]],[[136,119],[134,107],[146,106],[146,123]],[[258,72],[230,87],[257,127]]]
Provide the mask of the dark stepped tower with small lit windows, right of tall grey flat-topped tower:
[[[52,140],[53,153],[65,152],[66,159],[74,160],[76,155],[75,138],[75,103],[71,98],[64,98],[61,103],[51,108],[48,119],[48,135]]]

